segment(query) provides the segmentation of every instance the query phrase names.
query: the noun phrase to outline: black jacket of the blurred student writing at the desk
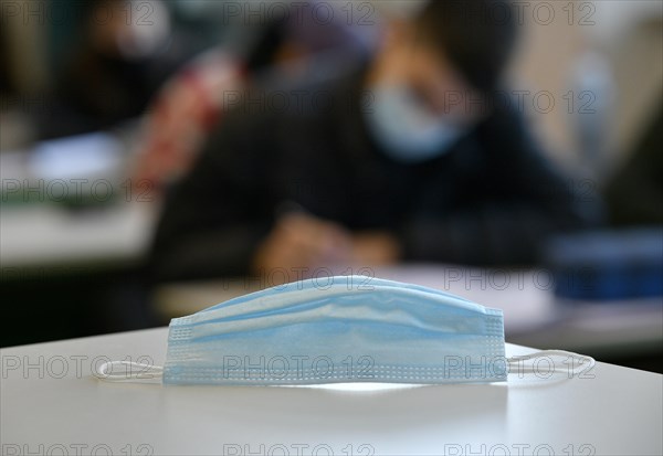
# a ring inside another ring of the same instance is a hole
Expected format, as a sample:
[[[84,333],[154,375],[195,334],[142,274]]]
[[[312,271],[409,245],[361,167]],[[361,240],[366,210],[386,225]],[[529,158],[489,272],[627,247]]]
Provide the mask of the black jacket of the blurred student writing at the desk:
[[[352,231],[387,230],[406,261],[524,265],[555,232],[596,216],[589,182],[565,179],[501,107],[448,153],[390,160],[364,121],[364,70],[259,91],[211,136],[165,206],[157,280],[249,273],[284,204]]]

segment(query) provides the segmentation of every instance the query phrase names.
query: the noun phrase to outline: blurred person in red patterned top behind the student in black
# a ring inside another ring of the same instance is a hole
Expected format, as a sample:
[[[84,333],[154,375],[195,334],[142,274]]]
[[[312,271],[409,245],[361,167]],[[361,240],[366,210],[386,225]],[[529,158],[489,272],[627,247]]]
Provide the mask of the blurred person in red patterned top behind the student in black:
[[[207,136],[222,123],[228,99],[252,81],[281,71],[295,78],[311,61],[362,57],[373,33],[345,20],[338,11],[320,23],[311,14],[319,1],[297,2],[283,15],[266,14],[250,31],[248,49],[223,43],[194,57],[171,77],[151,102],[141,130],[133,183],[162,190],[183,176]],[[269,3],[265,3],[269,4]],[[256,30],[255,30],[256,29]],[[246,34],[246,33],[245,33]]]

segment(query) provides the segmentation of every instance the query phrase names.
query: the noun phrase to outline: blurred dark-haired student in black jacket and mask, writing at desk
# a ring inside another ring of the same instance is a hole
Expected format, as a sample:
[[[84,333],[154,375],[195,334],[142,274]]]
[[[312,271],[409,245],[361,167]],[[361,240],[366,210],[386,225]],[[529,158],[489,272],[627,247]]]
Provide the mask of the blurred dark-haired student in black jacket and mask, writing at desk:
[[[370,62],[286,91],[287,109],[240,106],[167,201],[155,278],[522,265],[591,223],[517,106],[488,103],[515,22],[507,2],[432,1]]]

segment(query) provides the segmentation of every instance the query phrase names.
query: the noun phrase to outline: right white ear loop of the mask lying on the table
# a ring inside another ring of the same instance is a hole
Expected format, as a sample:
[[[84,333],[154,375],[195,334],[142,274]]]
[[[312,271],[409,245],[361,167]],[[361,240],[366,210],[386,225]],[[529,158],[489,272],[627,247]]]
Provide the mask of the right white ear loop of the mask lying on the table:
[[[541,369],[538,365],[538,363],[527,363],[526,362],[526,361],[530,361],[530,360],[552,358],[552,357],[565,358],[565,361],[562,361],[562,365],[560,367],[558,363],[555,363],[554,360],[549,360],[552,363],[552,365],[551,365],[551,369],[546,370],[546,369]],[[573,377],[580,378],[580,375],[582,375],[582,374],[587,375],[583,378],[593,378],[593,374],[590,373],[590,371],[594,368],[594,365],[597,363],[596,360],[591,357],[573,353],[572,351],[566,351],[566,350],[540,350],[540,351],[536,351],[536,352],[529,353],[529,354],[507,358],[506,361],[507,361],[507,367],[508,367],[509,373],[517,374],[517,375],[534,374],[535,377],[537,377],[537,379],[540,379],[544,381],[552,381],[552,382],[561,381],[561,380],[565,380],[566,378],[568,378],[568,379],[572,379]],[[548,375],[547,377],[541,375],[541,371],[544,371]],[[557,378],[554,378],[552,373],[555,373],[555,372],[558,372],[558,373],[565,372],[565,373],[567,373],[567,377],[565,378],[565,377],[558,375]]]

